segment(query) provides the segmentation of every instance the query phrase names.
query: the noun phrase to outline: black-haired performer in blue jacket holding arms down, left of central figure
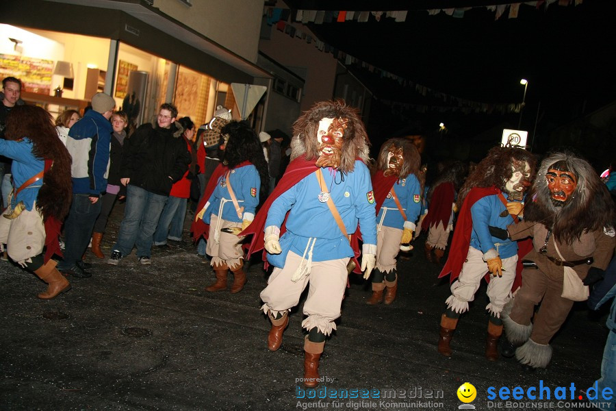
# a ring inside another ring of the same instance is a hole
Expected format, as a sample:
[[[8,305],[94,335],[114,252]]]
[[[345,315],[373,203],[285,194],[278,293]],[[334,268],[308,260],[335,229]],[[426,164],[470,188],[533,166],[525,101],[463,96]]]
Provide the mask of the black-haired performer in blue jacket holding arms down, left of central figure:
[[[222,127],[226,149],[212,179],[213,192],[201,210],[203,222],[209,224],[205,252],[211,256],[216,282],[207,291],[227,289],[227,273],[233,273],[231,293],[246,284],[243,237],[238,237],[255,219],[259,199],[268,192],[268,164],[255,131],[244,121],[231,121]],[[211,190],[210,185],[208,188]]]

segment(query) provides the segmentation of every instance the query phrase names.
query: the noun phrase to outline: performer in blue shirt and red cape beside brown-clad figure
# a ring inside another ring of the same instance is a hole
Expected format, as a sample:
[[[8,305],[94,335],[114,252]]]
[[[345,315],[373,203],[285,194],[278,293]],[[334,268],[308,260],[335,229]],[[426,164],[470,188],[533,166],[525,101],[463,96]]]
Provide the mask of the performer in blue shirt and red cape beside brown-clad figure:
[[[451,356],[450,342],[460,314],[474,300],[481,278],[488,272],[489,311],[485,356],[498,360],[502,334],[500,312],[511,299],[517,271],[518,245],[491,236],[489,226],[504,228],[517,222],[524,207],[524,192],[535,174],[532,153],[517,147],[494,147],[462,186],[460,214],[447,262],[439,277],[451,275],[451,293],[441,315],[438,351]]]

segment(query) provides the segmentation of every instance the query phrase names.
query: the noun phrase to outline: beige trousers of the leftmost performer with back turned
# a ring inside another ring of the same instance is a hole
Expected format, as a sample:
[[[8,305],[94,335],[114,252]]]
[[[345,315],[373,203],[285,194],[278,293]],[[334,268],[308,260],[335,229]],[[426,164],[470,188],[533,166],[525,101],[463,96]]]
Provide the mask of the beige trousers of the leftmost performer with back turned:
[[[10,214],[7,208],[2,214]],[[0,216],[0,244],[6,244],[8,256],[17,264],[25,267],[24,262],[42,253],[45,245],[45,226],[42,216],[36,210],[23,210],[16,219]]]

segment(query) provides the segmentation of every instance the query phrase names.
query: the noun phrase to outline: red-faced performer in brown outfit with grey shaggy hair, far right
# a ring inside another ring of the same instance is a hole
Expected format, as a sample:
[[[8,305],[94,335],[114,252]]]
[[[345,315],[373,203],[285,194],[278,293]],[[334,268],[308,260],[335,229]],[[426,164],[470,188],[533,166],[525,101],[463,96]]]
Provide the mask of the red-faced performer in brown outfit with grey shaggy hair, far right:
[[[615,245],[613,201],[593,167],[579,155],[568,151],[548,155],[531,195],[524,223],[507,230],[514,240],[532,237],[525,260],[537,268],[524,269],[522,288],[502,316],[506,338],[517,347],[515,358],[529,371],[548,366],[550,340],[574,304],[563,294],[567,271],[581,280],[602,274]],[[587,299],[585,292],[576,301]]]

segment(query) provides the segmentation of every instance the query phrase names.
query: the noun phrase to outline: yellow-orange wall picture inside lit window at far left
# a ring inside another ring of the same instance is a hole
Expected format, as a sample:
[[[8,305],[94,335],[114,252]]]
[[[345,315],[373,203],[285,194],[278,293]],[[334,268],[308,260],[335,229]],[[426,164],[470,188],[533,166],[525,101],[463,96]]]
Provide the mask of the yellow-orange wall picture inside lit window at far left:
[[[49,95],[53,60],[0,54],[0,77],[16,77],[23,84],[23,91]]]

